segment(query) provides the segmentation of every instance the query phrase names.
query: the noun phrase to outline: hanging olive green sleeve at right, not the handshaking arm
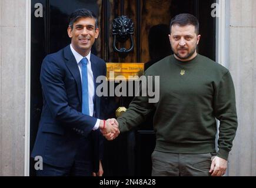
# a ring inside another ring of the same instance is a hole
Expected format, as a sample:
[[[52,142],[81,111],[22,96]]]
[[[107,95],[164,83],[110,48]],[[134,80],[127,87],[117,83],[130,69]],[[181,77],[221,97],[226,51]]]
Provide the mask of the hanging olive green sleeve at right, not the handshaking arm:
[[[230,72],[225,73],[215,90],[214,113],[220,120],[217,156],[227,160],[237,131],[235,89]]]

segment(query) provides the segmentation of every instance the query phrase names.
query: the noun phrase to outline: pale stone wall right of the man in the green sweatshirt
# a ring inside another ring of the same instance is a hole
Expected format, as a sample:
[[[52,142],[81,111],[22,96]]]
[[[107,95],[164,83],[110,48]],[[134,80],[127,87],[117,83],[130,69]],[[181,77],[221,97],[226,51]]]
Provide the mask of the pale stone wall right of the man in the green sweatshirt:
[[[230,0],[230,62],[238,130],[229,176],[256,176],[256,1]]]

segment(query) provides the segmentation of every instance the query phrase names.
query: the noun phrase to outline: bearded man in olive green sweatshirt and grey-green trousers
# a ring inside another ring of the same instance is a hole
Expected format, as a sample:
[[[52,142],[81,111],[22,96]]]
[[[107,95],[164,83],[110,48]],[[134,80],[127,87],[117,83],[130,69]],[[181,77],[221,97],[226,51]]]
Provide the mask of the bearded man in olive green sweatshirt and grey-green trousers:
[[[159,101],[135,97],[117,119],[120,132],[131,130],[155,109],[156,146],[152,176],[222,176],[237,130],[235,91],[228,69],[197,53],[200,41],[195,16],[171,20],[169,41],[174,55],[155,63],[146,76],[159,76]],[[220,120],[218,151],[215,150]],[[107,139],[115,136],[105,135]]]

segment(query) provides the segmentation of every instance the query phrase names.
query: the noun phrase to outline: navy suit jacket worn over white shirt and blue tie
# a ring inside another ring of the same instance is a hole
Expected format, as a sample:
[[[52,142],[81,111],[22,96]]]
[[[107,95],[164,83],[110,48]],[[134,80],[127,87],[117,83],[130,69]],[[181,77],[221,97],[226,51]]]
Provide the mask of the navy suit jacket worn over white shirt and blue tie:
[[[91,54],[91,66],[96,78],[105,75],[105,62]],[[32,157],[42,156],[43,162],[58,167],[69,167],[74,162],[81,136],[91,136],[94,170],[98,172],[102,159],[102,135],[92,130],[100,116],[101,98],[95,95],[94,117],[82,114],[82,86],[77,61],[70,46],[47,55],[42,62],[40,81],[44,106]]]

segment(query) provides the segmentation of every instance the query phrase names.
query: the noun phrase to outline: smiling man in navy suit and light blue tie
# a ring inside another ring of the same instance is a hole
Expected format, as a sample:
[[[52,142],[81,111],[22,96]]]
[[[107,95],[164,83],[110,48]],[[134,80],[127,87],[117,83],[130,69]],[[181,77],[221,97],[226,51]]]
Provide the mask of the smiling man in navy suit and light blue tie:
[[[96,16],[77,9],[69,19],[71,44],[42,62],[40,81],[44,106],[32,157],[41,156],[38,176],[102,176],[99,129],[112,135],[118,127],[101,120],[97,76],[105,62],[91,53],[99,35]]]

